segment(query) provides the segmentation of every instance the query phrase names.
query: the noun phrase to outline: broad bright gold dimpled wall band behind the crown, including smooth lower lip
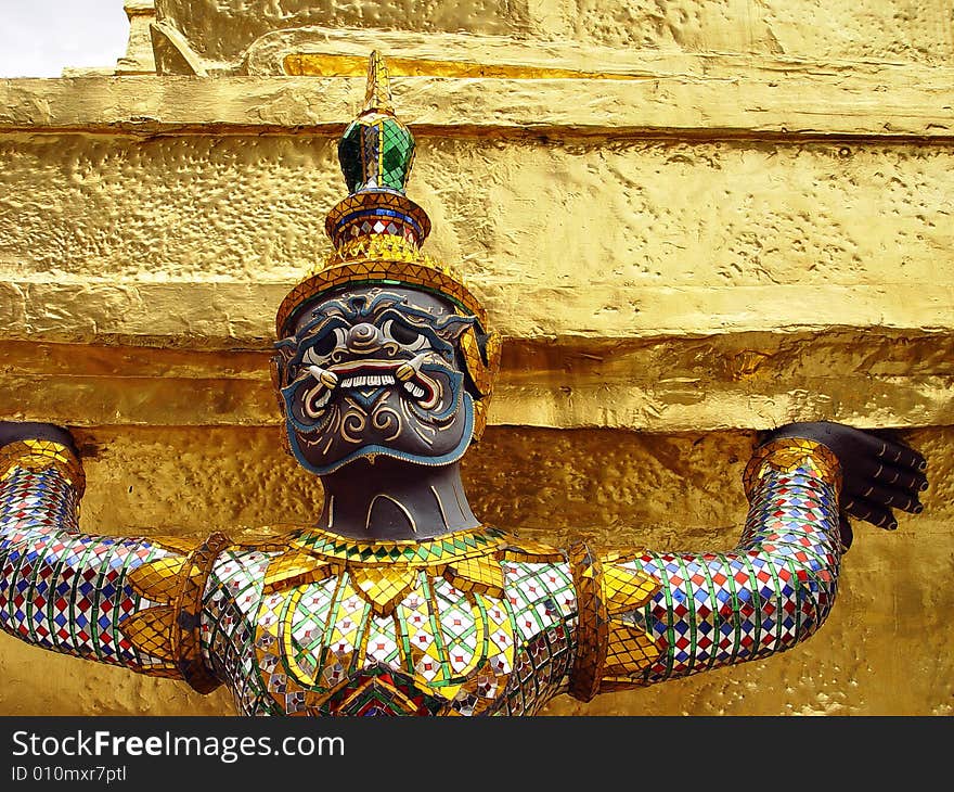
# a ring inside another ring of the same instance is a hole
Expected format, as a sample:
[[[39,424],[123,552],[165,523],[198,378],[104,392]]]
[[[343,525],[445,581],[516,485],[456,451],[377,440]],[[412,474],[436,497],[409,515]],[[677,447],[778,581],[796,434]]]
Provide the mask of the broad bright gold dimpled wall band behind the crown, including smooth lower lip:
[[[946,146],[418,142],[415,194],[441,229],[428,248],[463,263],[504,336],[848,327],[943,341],[954,325]],[[332,150],[4,137],[0,335],[260,347],[325,250]]]

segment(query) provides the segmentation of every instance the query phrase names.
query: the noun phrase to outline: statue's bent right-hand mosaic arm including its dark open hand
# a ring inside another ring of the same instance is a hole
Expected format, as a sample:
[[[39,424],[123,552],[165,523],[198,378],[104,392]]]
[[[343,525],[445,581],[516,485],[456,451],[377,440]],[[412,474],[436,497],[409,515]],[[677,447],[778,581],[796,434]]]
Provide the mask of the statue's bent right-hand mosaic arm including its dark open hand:
[[[805,640],[835,602],[848,516],[897,527],[892,509],[921,511],[925,469],[916,451],[841,424],[772,433],[746,469],[748,518],[732,551],[641,551],[606,557],[596,570],[609,622],[598,690],[758,660]]]

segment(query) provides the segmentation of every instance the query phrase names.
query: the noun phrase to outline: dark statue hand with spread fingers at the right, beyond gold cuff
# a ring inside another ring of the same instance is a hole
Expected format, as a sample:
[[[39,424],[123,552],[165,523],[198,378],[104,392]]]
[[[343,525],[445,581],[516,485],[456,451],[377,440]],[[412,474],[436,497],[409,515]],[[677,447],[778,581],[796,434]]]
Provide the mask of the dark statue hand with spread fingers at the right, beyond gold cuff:
[[[841,463],[843,484],[839,507],[842,533],[850,542],[843,518],[893,531],[898,527],[894,509],[919,514],[924,507],[918,494],[928,488],[927,462],[915,450],[842,423],[789,423],[779,426],[763,443],[782,437],[802,437],[827,446]]]

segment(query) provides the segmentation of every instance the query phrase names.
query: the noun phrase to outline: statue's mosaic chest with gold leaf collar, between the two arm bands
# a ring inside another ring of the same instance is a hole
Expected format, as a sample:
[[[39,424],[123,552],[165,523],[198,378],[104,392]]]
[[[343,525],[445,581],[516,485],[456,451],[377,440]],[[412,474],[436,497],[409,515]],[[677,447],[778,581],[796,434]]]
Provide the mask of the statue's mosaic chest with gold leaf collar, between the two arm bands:
[[[558,684],[575,614],[564,555],[492,528],[388,542],[311,531],[269,564],[255,652],[286,714],[478,715],[515,673]]]

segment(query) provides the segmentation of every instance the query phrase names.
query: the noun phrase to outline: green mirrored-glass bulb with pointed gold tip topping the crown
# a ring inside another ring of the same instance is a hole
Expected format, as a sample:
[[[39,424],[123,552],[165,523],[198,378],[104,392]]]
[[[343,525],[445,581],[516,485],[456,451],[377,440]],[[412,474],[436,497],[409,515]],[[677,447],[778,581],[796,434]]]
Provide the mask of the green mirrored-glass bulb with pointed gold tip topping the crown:
[[[414,136],[395,116],[384,59],[372,52],[368,63],[364,110],[338,141],[338,162],[348,192],[390,190],[403,193],[414,164]]]

